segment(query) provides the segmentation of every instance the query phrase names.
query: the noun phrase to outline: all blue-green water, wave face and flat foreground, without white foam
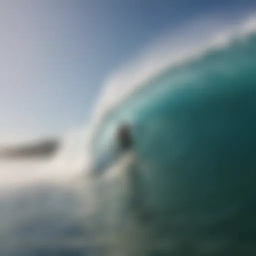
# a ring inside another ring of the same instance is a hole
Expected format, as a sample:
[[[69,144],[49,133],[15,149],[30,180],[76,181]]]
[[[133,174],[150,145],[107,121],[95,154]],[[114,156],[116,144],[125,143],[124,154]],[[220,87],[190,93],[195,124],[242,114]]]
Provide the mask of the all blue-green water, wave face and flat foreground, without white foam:
[[[255,59],[252,31],[144,80],[93,127],[85,173],[2,192],[0,254],[255,255]]]

